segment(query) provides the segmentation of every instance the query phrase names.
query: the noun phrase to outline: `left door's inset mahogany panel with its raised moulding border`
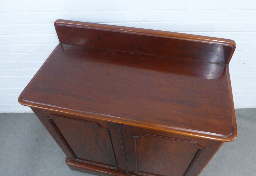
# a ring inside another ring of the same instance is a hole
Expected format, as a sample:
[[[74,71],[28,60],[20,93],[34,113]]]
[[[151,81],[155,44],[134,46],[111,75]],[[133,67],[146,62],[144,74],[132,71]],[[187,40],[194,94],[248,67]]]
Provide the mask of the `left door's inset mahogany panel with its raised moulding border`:
[[[109,129],[97,122],[57,115],[48,121],[74,160],[118,170]]]

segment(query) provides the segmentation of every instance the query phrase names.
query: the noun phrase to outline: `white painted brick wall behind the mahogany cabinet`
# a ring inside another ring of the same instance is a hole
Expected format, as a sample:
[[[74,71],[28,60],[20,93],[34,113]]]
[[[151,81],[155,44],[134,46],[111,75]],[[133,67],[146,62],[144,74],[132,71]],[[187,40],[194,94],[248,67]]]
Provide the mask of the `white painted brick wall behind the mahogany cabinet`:
[[[31,112],[18,96],[57,45],[53,22],[68,19],[235,40],[235,108],[256,108],[256,1],[1,0],[0,112]]]

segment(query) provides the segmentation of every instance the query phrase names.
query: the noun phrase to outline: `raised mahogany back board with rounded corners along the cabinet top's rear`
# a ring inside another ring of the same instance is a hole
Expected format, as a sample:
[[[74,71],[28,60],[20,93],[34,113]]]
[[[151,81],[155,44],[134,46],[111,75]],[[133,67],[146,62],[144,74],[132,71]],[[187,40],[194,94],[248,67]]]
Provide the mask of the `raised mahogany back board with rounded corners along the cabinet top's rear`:
[[[125,52],[228,64],[233,40],[177,32],[56,20],[61,43]]]

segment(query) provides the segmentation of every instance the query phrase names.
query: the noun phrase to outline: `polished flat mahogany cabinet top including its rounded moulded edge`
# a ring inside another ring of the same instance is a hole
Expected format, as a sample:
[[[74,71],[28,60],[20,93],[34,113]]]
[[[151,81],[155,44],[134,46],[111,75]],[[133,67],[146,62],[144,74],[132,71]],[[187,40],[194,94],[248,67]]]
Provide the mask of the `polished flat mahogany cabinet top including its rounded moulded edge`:
[[[214,140],[236,137],[225,63],[66,43],[24,89],[21,104]]]

